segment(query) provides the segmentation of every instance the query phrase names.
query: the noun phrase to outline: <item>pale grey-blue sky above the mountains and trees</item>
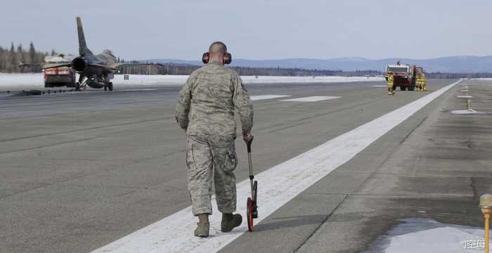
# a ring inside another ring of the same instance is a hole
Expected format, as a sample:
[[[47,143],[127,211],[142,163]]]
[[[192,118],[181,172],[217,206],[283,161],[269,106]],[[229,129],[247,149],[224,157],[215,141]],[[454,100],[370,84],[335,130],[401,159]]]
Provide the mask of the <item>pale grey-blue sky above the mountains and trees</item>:
[[[411,4],[411,5],[409,5]],[[0,45],[125,59],[199,60],[212,41],[235,58],[436,58],[492,54],[489,0],[1,1]]]

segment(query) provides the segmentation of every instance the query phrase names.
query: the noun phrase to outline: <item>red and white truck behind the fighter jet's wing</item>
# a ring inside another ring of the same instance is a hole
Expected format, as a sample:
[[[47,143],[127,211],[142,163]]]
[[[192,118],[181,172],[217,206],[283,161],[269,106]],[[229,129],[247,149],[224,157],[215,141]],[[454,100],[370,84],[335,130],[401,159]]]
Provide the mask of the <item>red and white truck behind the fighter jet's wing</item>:
[[[73,58],[73,56],[64,56],[63,54],[60,54],[58,56],[46,56],[44,58],[44,67],[70,63]],[[75,87],[75,72],[73,72],[70,67],[56,67],[44,70],[45,88],[61,86]]]

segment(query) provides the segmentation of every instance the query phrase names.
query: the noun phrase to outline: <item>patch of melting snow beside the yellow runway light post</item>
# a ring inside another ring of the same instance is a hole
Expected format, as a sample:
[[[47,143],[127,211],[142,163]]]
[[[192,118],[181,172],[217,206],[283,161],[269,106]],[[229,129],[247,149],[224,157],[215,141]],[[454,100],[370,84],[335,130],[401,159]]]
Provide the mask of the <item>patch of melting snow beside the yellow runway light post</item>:
[[[484,229],[439,223],[432,219],[410,218],[377,238],[365,253],[462,253],[484,252],[480,243]],[[470,243],[472,242],[472,243]]]

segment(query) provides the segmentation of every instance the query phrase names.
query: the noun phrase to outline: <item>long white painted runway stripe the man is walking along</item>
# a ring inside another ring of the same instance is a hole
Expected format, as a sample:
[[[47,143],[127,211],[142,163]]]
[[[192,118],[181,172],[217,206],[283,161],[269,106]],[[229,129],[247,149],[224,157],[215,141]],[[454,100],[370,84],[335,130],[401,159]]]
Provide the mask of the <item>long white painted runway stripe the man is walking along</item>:
[[[259,184],[259,218],[254,222],[259,223],[459,82],[461,80],[258,174],[255,179]],[[245,164],[242,167],[245,168]],[[250,195],[249,179],[238,183],[237,194],[238,213],[245,215],[246,198]],[[210,216],[210,238],[193,236],[197,220],[191,214],[191,207],[187,207],[94,252],[217,252],[245,233],[247,222],[243,217],[242,226],[235,228],[233,233],[221,233],[221,215],[215,197],[212,197],[212,203],[214,215]]]

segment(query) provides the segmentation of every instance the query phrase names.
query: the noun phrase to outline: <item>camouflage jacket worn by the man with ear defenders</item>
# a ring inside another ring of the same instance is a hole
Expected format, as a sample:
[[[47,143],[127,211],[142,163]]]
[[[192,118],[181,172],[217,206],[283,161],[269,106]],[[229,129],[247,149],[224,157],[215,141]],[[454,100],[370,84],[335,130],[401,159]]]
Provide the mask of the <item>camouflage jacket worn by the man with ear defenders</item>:
[[[238,73],[208,63],[190,74],[179,92],[176,120],[187,134],[234,135],[238,110],[242,134],[250,134],[253,105]]]

